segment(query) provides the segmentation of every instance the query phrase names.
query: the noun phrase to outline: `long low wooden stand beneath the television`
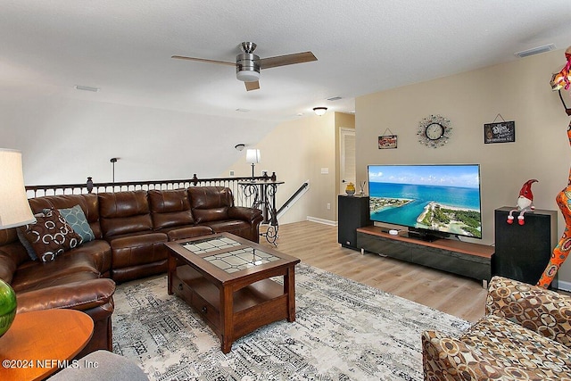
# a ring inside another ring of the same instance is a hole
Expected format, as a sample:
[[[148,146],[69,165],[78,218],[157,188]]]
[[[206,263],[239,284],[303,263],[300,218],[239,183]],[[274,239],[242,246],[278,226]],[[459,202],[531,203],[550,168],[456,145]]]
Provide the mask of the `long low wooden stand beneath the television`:
[[[484,287],[492,277],[493,246],[451,239],[428,242],[410,238],[404,231],[392,236],[383,228],[369,226],[357,229],[357,247],[361,253],[368,251],[473,277],[481,280]]]

